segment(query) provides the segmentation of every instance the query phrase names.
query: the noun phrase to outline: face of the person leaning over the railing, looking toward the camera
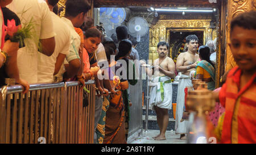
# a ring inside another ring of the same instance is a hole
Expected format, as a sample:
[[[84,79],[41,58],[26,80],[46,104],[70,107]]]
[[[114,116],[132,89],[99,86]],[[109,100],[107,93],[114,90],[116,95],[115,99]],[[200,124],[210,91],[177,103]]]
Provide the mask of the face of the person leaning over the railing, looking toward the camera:
[[[84,47],[88,53],[94,52],[98,45],[101,43],[100,37],[88,37],[84,38]]]

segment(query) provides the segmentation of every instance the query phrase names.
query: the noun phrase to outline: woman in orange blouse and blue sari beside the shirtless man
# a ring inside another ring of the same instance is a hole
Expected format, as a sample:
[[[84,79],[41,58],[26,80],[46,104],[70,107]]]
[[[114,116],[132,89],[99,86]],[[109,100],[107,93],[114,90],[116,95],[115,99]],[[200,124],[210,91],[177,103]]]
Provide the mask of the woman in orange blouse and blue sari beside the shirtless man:
[[[215,67],[214,62],[210,61],[210,48],[207,46],[199,47],[199,57],[201,61],[196,66],[196,79],[205,81],[208,85],[208,90],[215,88]]]

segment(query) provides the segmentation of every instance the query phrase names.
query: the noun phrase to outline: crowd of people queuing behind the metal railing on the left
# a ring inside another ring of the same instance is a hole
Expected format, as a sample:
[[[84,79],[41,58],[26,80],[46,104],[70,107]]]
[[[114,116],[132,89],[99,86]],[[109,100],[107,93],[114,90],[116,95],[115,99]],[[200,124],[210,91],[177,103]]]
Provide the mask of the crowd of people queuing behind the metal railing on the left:
[[[136,43],[129,40],[126,26],[117,27],[115,41],[104,36],[86,16],[91,9],[86,0],[68,0],[61,18],[57,2],[0,1],[1,86],[6,85],[6,78],[14,78],[27,93],[32,83],[79,81],[84,87],[86,81],[94,79],[94,143],[126,143],[130,116],[127,89],[137,80],[126,78],[129,68],[117,61],[130,63],[135,76],[139,71],[130,60],[139,59],[133,48]],[[18,34],[26,28],[31,35],[24,33],[27,37],[11,41],[11,31]],[[120,68],[123,77],[116,76]]]

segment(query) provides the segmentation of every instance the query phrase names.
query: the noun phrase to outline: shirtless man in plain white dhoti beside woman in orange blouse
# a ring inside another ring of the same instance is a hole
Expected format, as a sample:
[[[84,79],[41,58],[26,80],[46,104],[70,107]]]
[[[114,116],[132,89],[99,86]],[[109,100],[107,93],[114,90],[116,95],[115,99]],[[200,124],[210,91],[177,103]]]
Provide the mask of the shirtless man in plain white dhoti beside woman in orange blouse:
[[[187,86],[192,86],[191,71],[195,70],[197,61],[199,61],[199,55],[197,52],[198,37],[196,35],[189,35],[186,37],[186,44],[188,51],[180,53],[177,57],[176,69],[177,72],[181,72],[179,79],[178,91],[177,91],[177,106],[176,106],[176,120],[175,131],[176,134],[181,134],[180,139],[185,139],[185,133],[187,132],[187,121],[180,122],[185,103],[184,89]]]

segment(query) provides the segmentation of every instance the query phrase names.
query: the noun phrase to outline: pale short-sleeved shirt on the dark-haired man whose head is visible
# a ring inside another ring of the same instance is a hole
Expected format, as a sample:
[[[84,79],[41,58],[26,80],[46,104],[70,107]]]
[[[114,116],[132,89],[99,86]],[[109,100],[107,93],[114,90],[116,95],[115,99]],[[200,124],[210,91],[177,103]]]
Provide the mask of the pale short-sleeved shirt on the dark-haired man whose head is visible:
[[[64,64],[68,64],[69,61],[74,60],[74,59],[80,59],[79,56],[79,49],[80,49],[80,44],[81,44],[81,39],[79,34],[75,31],[75,28],[71,22],[71,20],[62,17],[61,18],[67,25],[68,25],[68,30],[71,32],[71,47],[69,48],[69,55],[66,56],[66,60]]]

